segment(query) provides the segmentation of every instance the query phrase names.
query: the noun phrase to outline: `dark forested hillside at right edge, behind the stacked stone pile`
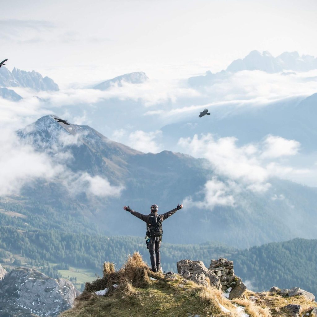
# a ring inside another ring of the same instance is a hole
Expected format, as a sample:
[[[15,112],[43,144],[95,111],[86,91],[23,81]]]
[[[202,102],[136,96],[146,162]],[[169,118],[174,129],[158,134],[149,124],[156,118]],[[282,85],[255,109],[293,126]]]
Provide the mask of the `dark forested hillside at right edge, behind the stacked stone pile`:
[[[317,294],[317,240],[268,243],[232,254],[235,272],[254,290],[301,287]]]

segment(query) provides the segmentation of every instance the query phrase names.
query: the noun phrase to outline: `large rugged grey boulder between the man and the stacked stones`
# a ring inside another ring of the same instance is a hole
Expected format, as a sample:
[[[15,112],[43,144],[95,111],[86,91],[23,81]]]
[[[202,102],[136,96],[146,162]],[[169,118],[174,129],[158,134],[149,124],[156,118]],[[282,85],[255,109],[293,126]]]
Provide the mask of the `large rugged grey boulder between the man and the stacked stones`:
[[[178,274],[186,280],[208,286],[208,278],[210,285],[215,286],[218,289],[221,288],[218,276],[208,270],[202,261],[181,260],[177,262],[177,271]]]

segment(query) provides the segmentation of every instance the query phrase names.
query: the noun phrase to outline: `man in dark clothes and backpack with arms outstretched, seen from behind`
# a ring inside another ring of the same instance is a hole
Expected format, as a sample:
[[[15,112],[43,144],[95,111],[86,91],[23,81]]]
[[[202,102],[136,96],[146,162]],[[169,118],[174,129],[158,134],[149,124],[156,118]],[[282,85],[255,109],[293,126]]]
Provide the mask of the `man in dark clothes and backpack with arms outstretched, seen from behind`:
[[[133,216],[146,222],[146,236],[150,238],[148,248],[151,257],[151,266],[153,272],[159,272],[161,266],[161,256],[159,248],[162,242],[162,222],[173,215],[177,210],[182,209],[183,205],[177,205],[176,208],[165,212],[163,215],[158,215],[159,207],[154,204],[151,206],[151,213],[149,215],[142,215],[137,211],[130,209],[129,206],[124,206],[123,209],[129,211]]]

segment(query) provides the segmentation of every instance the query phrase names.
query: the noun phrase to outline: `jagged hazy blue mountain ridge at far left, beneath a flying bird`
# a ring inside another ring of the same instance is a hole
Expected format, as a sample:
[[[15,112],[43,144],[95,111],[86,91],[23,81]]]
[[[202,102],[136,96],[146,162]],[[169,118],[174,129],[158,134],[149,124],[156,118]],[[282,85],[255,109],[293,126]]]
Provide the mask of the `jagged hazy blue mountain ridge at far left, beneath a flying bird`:
[[[49,78],[42,77],[36,71],[26,72],[17,68],[13,68],[12,73],[8,68],[1,67],[0,86],[2,87],[26,87],[36,91],[52,90],[58,91],[58,85]]]

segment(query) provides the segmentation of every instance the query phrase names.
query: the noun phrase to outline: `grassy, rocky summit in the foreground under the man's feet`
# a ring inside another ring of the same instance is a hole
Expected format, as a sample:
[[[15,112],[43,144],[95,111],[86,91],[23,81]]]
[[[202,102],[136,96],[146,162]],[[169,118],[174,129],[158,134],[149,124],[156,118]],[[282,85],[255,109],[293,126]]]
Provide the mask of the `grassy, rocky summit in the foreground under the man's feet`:
[[[179,274],[154,273],[137,252],[128,256],[118,271],[114,263],[105,262],[103,277],[86,283],[75,307],[62,312],[61,317],[316,316],[316,303],[300,288],[289,289],[288,294],[277,287],[255,293],[241,280],[237,285],[233,262],[225,258],[211,260],[210,268],[202,261],[180,260],[177,268]],[[221,284],[223,280],[230,281],[231,290],[228,284]],[[243,293],[234,291],[237,286]]]

